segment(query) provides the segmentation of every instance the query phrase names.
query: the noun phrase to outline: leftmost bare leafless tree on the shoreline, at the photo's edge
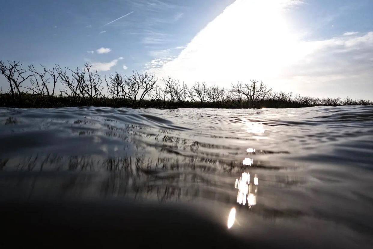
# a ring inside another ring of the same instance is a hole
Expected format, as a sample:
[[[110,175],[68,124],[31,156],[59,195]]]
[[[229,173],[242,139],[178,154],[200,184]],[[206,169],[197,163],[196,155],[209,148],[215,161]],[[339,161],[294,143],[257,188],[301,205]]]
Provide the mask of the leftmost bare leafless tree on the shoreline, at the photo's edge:
[[[22,64],[19,61],[9,62],[6,65],[3,61],[0,61],[0,73],[4,75],[9,83],[10,92],[12,93],[13,101],[15,101],[15,95],[18,94],[20,98],[21,84],[23,81],[27,80],[29,77],[34,75],[25,75],[27,71],[22,68]]]

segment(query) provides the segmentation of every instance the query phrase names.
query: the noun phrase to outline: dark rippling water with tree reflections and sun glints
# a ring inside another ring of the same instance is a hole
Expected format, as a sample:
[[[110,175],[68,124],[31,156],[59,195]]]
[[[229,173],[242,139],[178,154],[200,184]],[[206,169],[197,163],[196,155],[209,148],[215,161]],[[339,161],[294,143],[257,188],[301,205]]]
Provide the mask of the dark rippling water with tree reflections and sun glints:
[[[373,245],[373,106],[3,108],[0,124],[9,236],[176,248]]]

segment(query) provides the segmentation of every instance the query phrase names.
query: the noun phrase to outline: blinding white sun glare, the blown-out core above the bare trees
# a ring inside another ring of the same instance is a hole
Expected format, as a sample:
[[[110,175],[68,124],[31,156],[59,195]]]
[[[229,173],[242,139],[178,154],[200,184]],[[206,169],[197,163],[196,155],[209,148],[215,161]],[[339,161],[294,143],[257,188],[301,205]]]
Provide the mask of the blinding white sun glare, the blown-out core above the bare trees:
[[[276,77],[304,53],[286,13],[291,2],[236,0],[161,72],[191,82]]]

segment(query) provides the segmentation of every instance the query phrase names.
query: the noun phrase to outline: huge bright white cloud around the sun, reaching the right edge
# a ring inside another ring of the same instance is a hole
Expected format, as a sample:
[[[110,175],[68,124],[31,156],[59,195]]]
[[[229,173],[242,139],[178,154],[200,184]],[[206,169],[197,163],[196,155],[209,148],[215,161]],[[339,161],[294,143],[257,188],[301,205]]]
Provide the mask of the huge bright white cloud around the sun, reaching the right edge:
[[[145,69],[157,77],[169,75],[188,84],[203,80],[229,87],[237,80],[258,79],[275,90],[320,97],[354,97],[355,91],[355,96],[369,98],[373,91],[373,32],[305,41],[288,14],[300,3],[236,0],[177,58],[154,59]],[[355,84],[352,91],[347,86],[351,82]]]

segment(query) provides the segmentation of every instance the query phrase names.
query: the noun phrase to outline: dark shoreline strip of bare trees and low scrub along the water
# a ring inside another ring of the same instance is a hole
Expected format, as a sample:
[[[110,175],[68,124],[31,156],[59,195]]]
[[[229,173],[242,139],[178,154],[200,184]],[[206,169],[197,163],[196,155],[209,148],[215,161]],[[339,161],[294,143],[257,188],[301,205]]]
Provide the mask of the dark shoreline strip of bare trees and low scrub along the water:
[[[293,96],[272,91],[255,80],[232,83],[228,89],[204,82],[188,87],[170,77],[157,80],[153,74],[137,71],[129,76],[115,72],[102,77],[89,64],[83,69],[62,69],[59,65],[47,69],[41,65],[40,70],[30,65],[26,70],[19,61],[0,61],[0,72],[9,83],[5,93],[0,91],[0,107],[294,108],[373,104],[348,97],[342,100]],[[58,94],[57,84],[65,87]]]

